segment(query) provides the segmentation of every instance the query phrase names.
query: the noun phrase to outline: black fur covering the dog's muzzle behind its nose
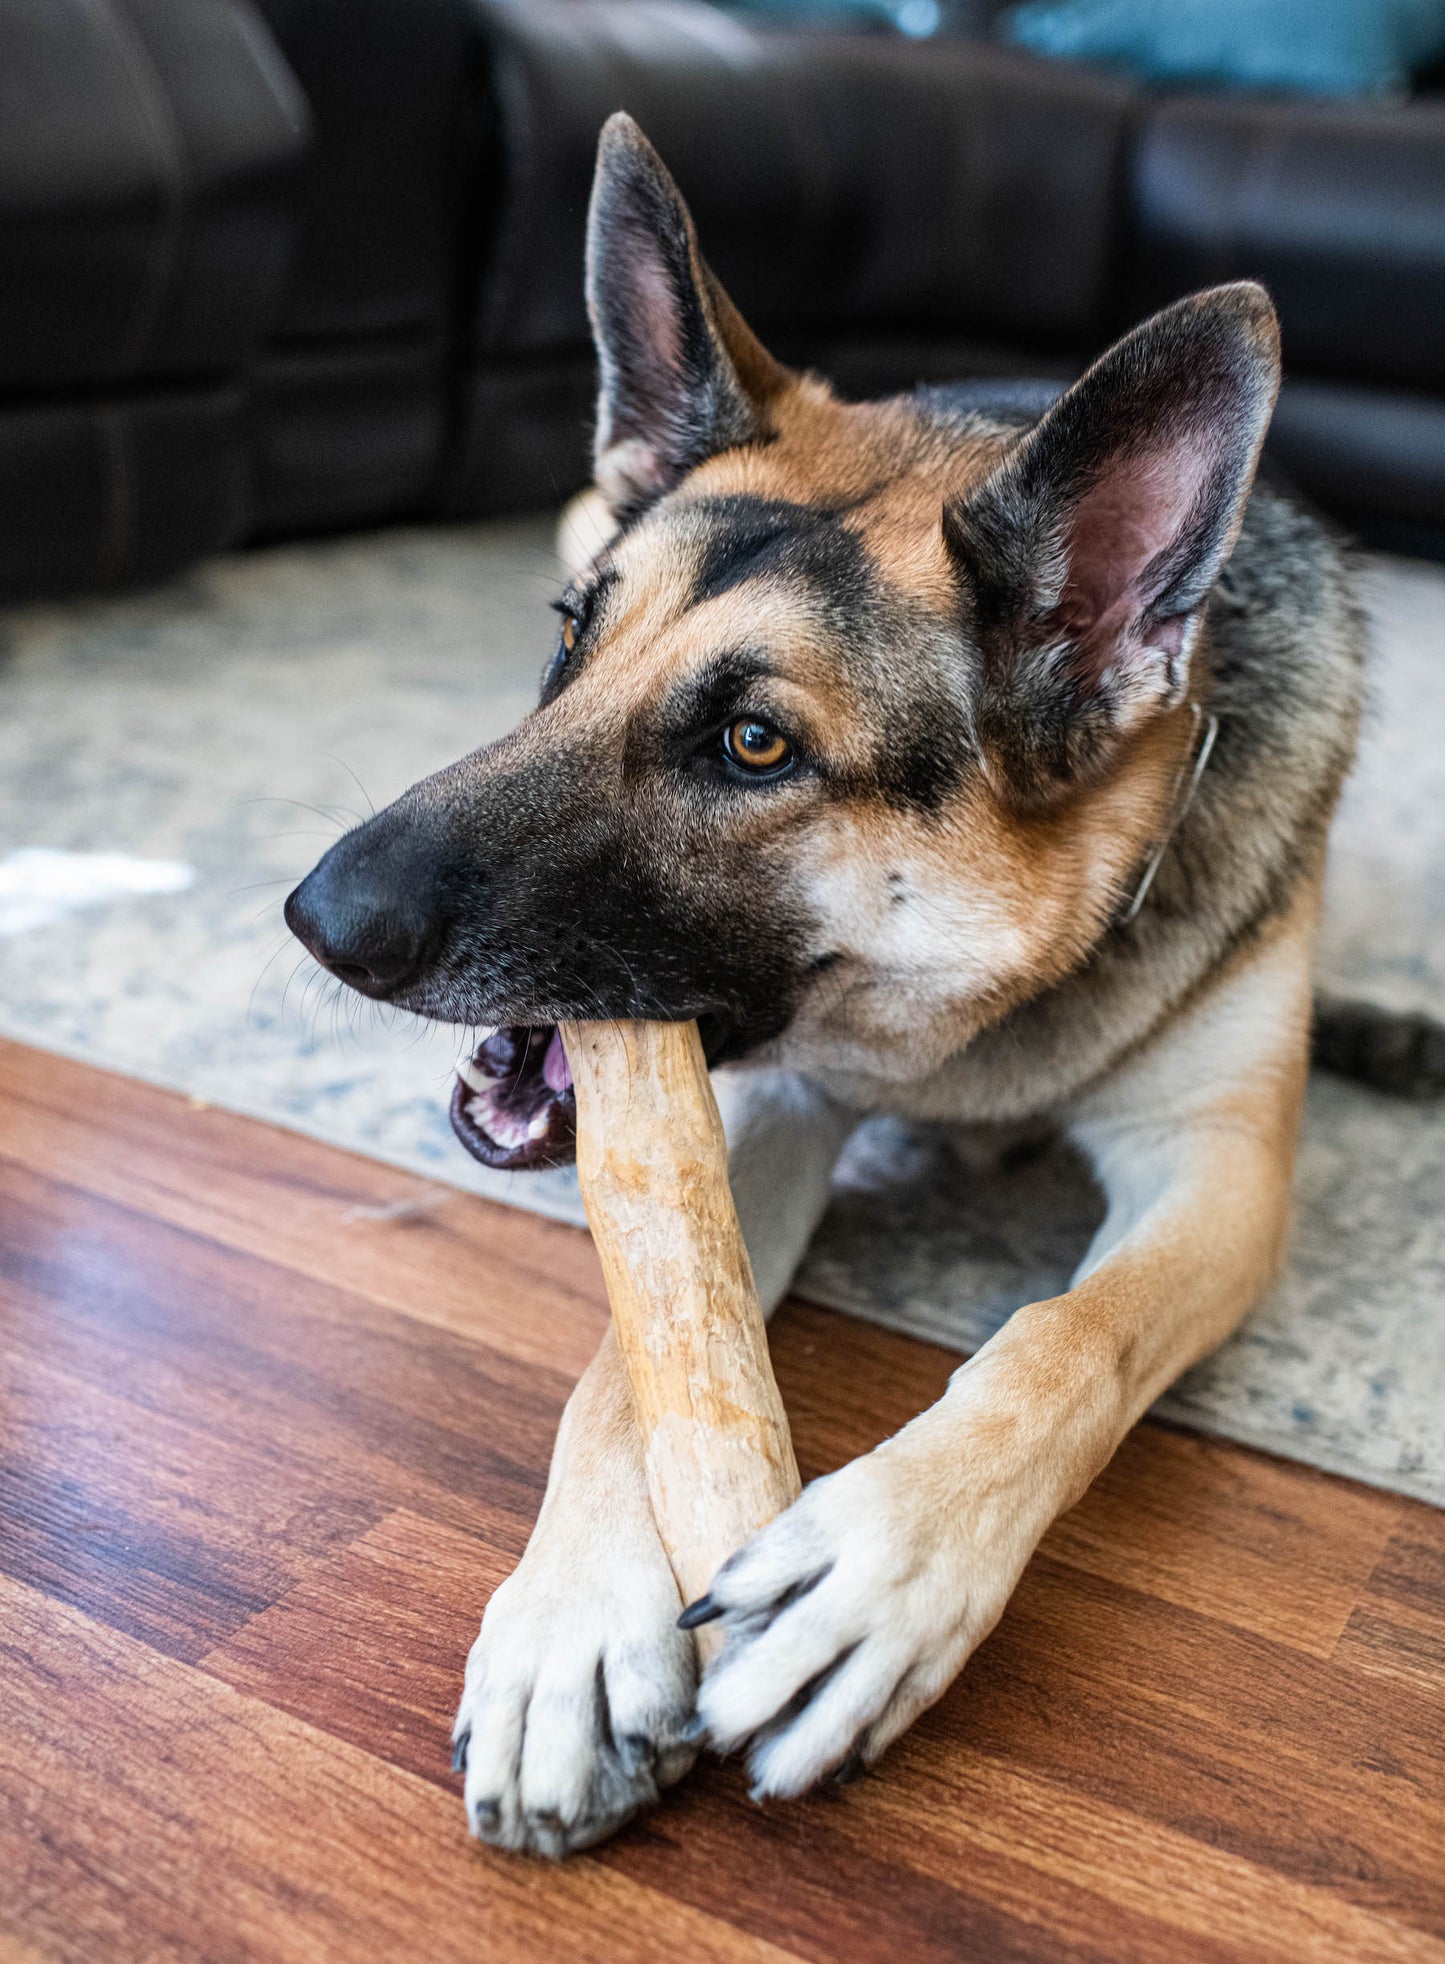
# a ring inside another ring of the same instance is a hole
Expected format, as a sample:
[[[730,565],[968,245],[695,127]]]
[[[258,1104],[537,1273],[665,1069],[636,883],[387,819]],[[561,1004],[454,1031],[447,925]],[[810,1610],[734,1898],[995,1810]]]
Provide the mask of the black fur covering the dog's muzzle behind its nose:
[[[738,852],[717,797],[666,762],[628,774],[613,750],[552,742],[503,768],[463,758],[385,817],[402,833],[440,829],[446,848],[438,953],[395,996],[401,1008],[532,1027],[715,1015],[728,1059],[791,1021],[817,929],[772,905],[785,860],[756,850],[752,905],[738,907]],[[363,880],[379,837],[369,825],[348,835]],[[772,919],[762,947],[758,907]]]

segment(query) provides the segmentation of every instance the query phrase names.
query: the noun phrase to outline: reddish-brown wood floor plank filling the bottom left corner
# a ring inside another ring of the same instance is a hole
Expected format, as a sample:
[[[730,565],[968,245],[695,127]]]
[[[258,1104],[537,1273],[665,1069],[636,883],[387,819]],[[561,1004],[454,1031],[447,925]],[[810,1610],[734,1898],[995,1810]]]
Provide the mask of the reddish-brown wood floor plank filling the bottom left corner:
[[[585,1858],[493,1856],[426,1781],[29,1589],[0,1626],[0,1925],[49,1956],[785,1956]]]

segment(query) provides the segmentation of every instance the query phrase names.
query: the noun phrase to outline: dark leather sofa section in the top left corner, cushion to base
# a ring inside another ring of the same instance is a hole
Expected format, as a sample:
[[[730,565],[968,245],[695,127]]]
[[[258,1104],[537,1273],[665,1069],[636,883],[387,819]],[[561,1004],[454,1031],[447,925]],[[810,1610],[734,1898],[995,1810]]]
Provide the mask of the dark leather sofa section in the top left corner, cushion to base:
[[[308,120],[230,0],[0,6],[0,591],[149,579],[249,524],[245,363]]]

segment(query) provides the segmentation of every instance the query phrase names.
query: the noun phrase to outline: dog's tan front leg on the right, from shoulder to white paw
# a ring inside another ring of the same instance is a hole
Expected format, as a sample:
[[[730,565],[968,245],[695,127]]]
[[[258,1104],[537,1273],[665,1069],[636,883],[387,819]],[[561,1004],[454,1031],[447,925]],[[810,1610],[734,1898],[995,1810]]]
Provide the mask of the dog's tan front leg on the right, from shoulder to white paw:
[[[1135,1420],[1274,1275],[1306,1076],[1313,896],[1070,1114],[1109,1196],[1064,1296],[719,1571],[697,1732],[758,1795],[862,1770],[952,1681]]]

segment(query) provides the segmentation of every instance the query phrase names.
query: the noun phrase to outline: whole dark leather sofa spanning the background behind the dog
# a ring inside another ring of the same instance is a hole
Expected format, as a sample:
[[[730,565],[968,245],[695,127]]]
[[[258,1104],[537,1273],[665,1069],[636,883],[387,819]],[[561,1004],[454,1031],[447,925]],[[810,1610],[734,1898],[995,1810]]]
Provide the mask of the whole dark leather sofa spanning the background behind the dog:
[[[1274,452],[1445,550],[1445,98],[1152,96],[701,0],[0,0],[0,595],[585,477],[581,238],[628,108],[776,350],[1066,377],[1257,275]]]

